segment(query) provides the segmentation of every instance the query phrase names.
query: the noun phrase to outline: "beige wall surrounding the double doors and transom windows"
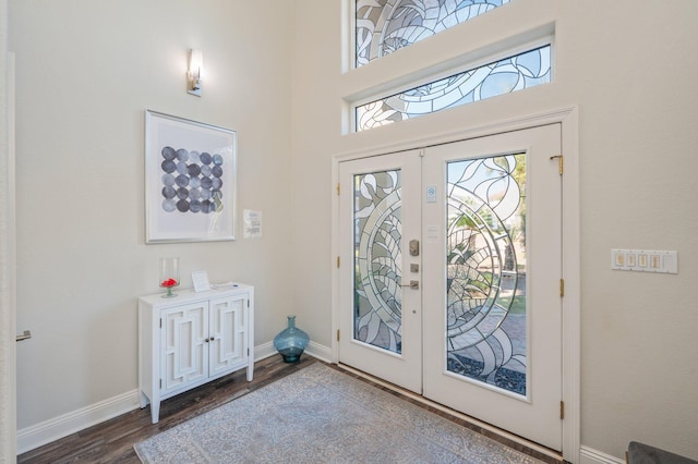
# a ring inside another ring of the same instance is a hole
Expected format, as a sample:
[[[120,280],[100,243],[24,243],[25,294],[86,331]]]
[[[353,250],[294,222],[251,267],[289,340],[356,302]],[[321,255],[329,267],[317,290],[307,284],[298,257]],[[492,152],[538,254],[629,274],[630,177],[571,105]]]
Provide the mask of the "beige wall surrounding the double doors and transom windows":
[[[334,155],[579,106],[581,443],[623,457],[639,440],[698,459],[698,3],[517,0],[342,73],[341,4],[298,1],[294,247],[299,323],[329,345]],[[432,64],[554,24],[555,83],[342,135],[341,101]],[[611,271],[611,248],[678,251],[679,273]]]

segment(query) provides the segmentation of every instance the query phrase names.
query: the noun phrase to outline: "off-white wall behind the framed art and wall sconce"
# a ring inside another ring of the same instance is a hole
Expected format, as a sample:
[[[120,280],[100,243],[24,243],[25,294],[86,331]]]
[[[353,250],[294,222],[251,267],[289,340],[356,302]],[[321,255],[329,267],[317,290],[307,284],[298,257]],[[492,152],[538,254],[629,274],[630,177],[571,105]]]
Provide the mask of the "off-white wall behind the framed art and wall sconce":
[[[179,256],[212,282],[256,286],[255,337],[286,326],[292,219],[290,2],[15,1],[19,428],[136,388],[136,297]],[[201,98],[185,93],[204,52]],[[238,131],[238,219],[263,237],[144,244],[144,111]],[[279,266],[279,262],[285,266]]]

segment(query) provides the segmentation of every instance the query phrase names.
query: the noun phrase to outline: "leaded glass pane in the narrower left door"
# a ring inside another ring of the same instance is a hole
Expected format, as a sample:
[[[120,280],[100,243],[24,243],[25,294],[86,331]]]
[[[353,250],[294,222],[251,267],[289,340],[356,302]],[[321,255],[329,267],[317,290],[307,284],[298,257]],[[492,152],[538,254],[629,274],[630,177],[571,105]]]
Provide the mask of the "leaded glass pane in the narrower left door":
[[[400,171],[354,175],[354,340],[401,353]]]

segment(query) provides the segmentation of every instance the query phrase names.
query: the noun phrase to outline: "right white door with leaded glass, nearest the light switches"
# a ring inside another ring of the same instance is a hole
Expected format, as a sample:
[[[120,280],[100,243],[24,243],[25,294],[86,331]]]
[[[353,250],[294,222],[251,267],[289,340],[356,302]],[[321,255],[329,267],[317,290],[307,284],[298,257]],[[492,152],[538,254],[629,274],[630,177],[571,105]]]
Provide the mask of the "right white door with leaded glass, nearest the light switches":
[[[432,147],[424,396],[562,450],[558,124]]]

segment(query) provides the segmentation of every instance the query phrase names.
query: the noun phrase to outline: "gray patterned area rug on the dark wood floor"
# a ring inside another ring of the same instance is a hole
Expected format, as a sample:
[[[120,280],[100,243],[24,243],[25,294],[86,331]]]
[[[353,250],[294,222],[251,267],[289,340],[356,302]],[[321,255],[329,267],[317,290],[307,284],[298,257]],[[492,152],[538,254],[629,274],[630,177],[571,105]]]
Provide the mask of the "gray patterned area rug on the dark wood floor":
[[[540,463],[320,363],[134,448],[144,463]]]

